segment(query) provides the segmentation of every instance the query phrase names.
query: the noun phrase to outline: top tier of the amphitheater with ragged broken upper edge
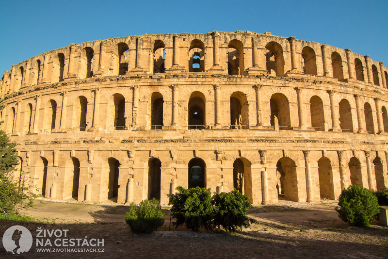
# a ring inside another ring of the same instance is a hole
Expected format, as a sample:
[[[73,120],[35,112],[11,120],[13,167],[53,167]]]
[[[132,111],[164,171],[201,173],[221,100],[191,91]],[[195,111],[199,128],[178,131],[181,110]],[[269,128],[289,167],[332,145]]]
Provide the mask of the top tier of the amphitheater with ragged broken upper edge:
[[[247,31],[144,34],[71,44],[12,65],[0,97],[36,84],[153,73],[328,77],[387,89],[382,62],[295,37]]]

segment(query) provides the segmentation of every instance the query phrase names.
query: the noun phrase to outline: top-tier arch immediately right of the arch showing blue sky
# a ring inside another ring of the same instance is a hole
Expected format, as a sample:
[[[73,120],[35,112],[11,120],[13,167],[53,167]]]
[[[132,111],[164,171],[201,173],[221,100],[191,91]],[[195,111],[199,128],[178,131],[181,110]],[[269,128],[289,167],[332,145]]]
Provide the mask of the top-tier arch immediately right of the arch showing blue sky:
[[[244,46],[239,40],[231,40],[227,45],[227,71],[229,75],[244,74]]]

